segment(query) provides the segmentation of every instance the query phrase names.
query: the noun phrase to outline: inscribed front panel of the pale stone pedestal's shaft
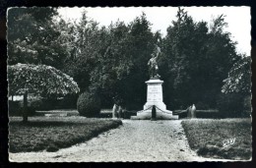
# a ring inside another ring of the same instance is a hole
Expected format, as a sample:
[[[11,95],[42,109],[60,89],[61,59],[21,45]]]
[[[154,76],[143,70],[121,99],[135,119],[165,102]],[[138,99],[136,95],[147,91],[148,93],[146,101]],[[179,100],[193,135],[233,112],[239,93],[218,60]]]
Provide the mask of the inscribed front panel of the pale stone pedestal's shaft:
[[[162,90],[160,84],[148,85],[147,101],[162,101]]]

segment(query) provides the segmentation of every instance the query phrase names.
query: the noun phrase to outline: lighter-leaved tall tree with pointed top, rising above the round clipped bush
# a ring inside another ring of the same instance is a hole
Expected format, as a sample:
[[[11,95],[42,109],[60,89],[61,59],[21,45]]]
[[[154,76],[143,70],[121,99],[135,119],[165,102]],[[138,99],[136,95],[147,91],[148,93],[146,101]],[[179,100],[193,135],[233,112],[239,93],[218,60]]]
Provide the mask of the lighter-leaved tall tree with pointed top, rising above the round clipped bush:
[[[98,55],[103,55],[105,51],[104,43],[108,36],[105,28],[99,29],[95,21],[88,19],[86,11],[82,14],[79,23],[70,27],[73,31],[70,31],[67,34],[70,36],[66,38],[70,40],[68,42],[70,56],[65,62],[63,71],[74,78],[81,91],[85,91],[91,84],[90,74],[98,64]]]

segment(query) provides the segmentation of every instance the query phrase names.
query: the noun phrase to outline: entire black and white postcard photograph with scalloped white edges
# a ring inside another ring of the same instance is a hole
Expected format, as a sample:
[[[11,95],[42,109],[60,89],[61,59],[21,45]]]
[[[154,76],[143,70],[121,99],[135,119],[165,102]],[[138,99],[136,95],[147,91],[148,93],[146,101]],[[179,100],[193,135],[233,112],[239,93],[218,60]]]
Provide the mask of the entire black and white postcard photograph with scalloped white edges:
[[[250,7],[6,18],[10,162],[252,160]]]

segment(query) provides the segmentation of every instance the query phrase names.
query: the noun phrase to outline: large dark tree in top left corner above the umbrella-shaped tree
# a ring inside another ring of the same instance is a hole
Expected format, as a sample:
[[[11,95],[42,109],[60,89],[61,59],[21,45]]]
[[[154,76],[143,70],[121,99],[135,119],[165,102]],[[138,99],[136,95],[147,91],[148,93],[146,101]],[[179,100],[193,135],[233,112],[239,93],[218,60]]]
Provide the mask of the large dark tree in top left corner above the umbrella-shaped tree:
[[[61,69],[67,55],[59,42],[60,29],[54,8],[8,10],[8,64],[44,64]]]

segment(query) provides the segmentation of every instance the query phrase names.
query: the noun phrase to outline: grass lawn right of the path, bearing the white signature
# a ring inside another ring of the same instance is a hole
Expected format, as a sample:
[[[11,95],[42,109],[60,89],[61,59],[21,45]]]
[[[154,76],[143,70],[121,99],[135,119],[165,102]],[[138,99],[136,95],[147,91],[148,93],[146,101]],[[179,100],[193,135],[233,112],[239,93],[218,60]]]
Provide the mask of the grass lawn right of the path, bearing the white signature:
[[[192,119],[182,121],[192,149],[204,157],[248,160],[252,155],[251,119]],[[224,140],[234,139],[226,147]]]

